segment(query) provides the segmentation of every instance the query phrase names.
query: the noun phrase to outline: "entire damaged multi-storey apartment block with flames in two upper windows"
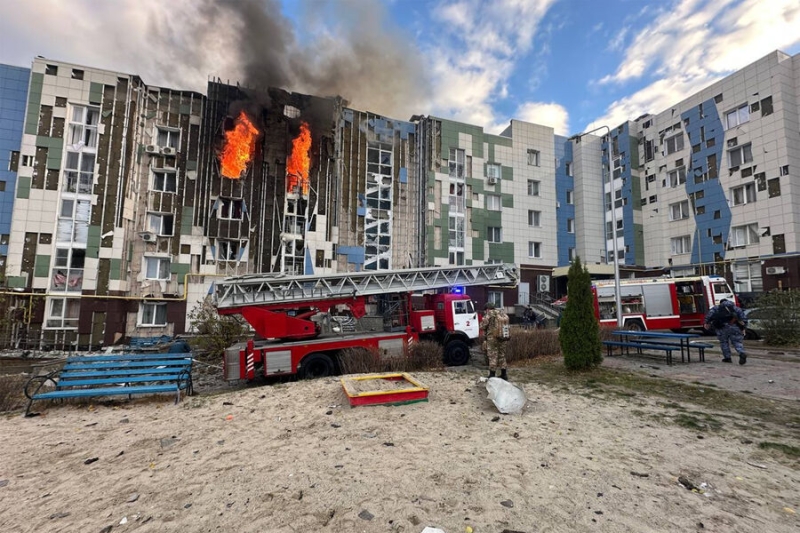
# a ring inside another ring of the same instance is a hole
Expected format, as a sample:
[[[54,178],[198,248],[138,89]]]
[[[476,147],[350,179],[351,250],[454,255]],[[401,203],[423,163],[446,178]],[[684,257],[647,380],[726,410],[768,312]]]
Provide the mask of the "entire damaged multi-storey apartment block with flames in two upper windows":
[[[595,277],[800,287],[800,56],[570,138],[44,58],[28,85],[5,281],[42,345],[186,332],[215,279],[254,273],[514,263],[519,287],[472,294],[512,312],[565,294],[576,256]]]

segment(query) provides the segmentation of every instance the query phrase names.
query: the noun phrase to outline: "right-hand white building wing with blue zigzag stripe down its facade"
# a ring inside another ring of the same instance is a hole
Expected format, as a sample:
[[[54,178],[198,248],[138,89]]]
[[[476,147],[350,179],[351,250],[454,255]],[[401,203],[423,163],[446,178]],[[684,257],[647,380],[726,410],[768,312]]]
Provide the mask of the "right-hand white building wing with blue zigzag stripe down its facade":
[[[626,123],[641,179],[623,177],[625,264],[724,275],[742,293],[800,287],[799,124],[800,55],[780,51]]]

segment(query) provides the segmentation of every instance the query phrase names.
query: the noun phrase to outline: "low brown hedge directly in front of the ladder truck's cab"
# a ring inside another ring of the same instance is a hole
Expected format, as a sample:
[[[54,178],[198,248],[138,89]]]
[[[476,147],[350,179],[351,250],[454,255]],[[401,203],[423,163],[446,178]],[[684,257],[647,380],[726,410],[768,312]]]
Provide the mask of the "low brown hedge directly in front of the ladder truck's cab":
[[[378,350],[347,348],[339,353],[339,370],[342,374],[440,370],[444,367],[443,358],[441,345],[431,341],[413,344],[408,357],[386,357],[381,356]]]

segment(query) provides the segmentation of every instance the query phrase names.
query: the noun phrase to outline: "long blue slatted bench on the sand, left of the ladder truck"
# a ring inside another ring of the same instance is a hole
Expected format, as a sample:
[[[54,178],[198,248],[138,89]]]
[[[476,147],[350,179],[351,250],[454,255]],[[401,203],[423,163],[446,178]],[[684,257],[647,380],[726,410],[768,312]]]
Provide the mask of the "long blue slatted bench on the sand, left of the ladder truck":
[[[43,391],[48,383],[54,388]],[[175,393],[192,394],[192,355],[186,353],[127,353],[67,358],[60,370],[34,376],[25,384],[29,416],[34,400],[90,396]]]

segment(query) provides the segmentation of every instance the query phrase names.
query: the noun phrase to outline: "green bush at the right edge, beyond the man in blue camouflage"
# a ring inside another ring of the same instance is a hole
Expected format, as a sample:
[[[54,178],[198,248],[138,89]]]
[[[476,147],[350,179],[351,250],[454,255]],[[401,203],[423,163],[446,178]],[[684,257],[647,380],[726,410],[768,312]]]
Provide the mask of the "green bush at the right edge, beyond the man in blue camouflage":
[[[767,344],[800,344],[800,290],[766,292],[752,307],[758,308],[759,327]]]

